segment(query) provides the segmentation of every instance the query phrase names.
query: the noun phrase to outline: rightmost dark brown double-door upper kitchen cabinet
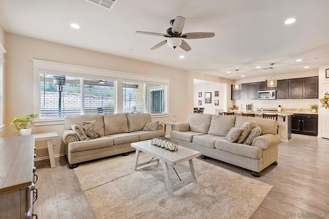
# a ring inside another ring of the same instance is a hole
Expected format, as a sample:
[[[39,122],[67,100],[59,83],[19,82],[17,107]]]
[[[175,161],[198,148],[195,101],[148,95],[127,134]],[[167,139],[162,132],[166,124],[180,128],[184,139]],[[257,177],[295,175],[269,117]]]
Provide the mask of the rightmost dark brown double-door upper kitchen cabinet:
[[[289,79],[289,99],[318,98],[319,77]]]

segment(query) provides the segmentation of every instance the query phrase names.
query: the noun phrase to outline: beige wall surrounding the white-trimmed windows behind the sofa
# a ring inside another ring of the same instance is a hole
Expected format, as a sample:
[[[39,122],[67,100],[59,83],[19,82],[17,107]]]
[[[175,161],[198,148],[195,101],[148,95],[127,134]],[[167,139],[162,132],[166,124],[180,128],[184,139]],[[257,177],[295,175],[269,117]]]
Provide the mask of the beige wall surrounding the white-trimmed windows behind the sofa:
[[[165,66],[140,62],[133,59],[108,55],[85,49],[42,41],[40,39],[6,33],[6,86],[4,123],[5,136],[17,135],[10,126],[10,119],[33,113],[33,69],[31,58],[51,62],[67,63],[79,66],[138,73],[170,78],[170,117],[154,120],[171,121],[175,115],[177,121],[186,121],[188,112],[193,112],[193,79],[187,82],[187,72]],[[189,92],[190,91],[190,92]],[[32,133],[56,131],[61,136],[63,125],[35,126]],[[170,128],[169,130],[170,131]],[[169,132],[167,132],[169,134]],[[47,156],[45,142],[36,144],[38,157]],[[64,153],[61,138],[54,147],[54,154]]]

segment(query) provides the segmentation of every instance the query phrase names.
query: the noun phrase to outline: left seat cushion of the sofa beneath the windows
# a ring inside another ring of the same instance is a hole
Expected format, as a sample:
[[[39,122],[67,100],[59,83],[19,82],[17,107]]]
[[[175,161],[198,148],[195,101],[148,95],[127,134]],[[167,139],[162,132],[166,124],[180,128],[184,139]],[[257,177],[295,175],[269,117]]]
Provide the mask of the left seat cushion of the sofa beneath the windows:
[[[113,146],[113,139],[102,136],[89,141],[71,142],[68,144],[68,151],[72,153],[111,146]]]

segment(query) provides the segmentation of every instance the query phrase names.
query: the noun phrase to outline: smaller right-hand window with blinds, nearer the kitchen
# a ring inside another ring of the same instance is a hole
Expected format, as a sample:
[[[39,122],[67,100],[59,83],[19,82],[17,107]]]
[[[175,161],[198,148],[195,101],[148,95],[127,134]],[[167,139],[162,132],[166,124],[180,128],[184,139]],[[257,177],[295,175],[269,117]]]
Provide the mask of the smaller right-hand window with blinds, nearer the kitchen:
[[[167,85],[124,81],[122,85],[124,113],[167,113]]]

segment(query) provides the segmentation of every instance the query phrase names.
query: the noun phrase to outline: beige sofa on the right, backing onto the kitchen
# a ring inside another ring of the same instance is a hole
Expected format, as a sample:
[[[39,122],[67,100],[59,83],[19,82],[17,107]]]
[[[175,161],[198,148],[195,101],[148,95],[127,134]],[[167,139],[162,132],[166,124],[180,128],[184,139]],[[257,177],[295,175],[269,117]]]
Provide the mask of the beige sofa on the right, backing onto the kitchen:
[[[257,124],[261,135],[251,145],[230,143],[226,135],[232,127],[240,128],[245,122]],[[172,141],[226,163],[251,170],[256,177],[267,166],[277,164],[281,137],[278,122],[268,118],[191,113],[187,123],[174,125]]]

